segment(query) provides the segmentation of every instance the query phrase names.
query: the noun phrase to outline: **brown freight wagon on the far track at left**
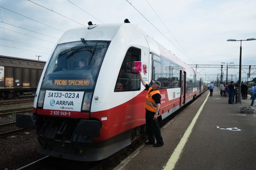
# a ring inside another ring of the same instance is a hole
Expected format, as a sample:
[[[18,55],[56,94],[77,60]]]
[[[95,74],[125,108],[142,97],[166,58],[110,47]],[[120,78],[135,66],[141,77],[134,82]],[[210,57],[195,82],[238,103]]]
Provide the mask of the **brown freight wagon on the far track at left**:
[[[0,99],[36,93],[45,61],[0,55]]]

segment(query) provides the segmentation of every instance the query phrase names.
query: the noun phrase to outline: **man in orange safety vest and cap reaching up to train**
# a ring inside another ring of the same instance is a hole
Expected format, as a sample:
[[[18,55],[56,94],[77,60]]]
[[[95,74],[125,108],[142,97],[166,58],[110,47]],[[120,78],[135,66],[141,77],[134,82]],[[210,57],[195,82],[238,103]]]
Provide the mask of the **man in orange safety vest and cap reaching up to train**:
[[[134,70],[136,69],[138,68],[135,67]],[[159,89],[161,87],[161,82],[153,80],[152,86],[149,86],[146,84],[140,71],[138,72],[138,75],[140,76],[140,81],[143,86],[148,90],[146,102],[144,103],[144,107],[146,109],[146,131],[148,135],[148,141],[145,142],[145,144],[153,145],[153,147],[162,147],[164,145],[164,141],[157,120],[160,111],[161,94]]]

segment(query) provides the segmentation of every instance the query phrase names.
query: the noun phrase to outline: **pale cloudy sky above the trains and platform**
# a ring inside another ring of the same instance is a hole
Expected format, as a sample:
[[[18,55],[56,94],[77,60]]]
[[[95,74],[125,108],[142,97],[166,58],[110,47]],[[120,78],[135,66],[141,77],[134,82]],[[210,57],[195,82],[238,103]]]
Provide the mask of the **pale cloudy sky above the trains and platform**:
[[[239,65],[240,41],[226,40],[256,38],[255,7],[256,0],[0,0],[0,55],[46,61],[64,31],[128,18],[187,64]],[[242,41],[242,65],[256,65],[256,41]],[[238,69],[228,74],[238,77]]]

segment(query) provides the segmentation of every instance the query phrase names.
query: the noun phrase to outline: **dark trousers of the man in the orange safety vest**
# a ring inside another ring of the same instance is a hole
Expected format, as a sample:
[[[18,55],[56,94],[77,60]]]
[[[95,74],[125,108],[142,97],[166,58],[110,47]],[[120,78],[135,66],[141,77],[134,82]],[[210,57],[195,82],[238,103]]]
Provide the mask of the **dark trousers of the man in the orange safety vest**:
[[[163,137],[161,135],[161,131],[158,125],[158,121],[153,120],[155,113],[152,111],[148,111],[146,109],[146,130],[148,135],[148,140],[151,142],[156,142],[163,144]]]

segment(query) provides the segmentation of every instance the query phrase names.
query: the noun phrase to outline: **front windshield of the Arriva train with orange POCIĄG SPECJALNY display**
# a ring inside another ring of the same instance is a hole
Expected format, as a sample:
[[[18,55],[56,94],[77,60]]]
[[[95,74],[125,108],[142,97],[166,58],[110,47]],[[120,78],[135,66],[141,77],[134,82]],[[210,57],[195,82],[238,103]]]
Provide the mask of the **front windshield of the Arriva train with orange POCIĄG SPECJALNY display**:
[[[50,90],[94,89],[110,41],[82,41],[57,45],[42,82]]]

